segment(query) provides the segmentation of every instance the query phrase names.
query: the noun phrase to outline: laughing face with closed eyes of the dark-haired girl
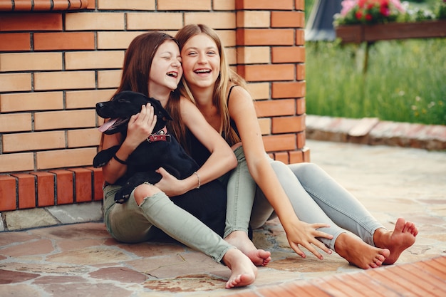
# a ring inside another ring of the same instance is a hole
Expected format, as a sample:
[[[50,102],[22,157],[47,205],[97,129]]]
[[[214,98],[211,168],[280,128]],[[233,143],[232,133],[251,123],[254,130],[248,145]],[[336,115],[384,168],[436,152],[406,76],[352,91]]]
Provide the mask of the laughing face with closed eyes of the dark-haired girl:
[[[162,43],[153,57],[149,75],[149,94],[162,89],[175,90],[182,76],[180,49],[175,41]]]

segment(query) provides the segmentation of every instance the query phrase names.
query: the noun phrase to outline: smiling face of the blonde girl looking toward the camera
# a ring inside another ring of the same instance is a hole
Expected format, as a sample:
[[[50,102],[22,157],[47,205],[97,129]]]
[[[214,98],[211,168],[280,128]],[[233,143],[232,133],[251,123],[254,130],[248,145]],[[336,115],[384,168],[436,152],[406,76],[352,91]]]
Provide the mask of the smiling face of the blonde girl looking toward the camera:
[[[220,73],[220,55],[215,42],[204,33],[192,36],[181,51],[182,67],[187,85],[214,88]]]

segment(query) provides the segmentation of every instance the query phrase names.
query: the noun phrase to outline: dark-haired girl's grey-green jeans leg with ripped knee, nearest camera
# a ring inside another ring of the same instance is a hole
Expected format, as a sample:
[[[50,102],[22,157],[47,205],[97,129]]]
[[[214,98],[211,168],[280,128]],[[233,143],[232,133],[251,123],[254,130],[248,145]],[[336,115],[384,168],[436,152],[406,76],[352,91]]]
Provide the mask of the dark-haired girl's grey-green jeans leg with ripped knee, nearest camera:
[[[127,243],[150,241],[150,229],[157,226],[173,239],[217,262],[234,248],[199,219],[177,207],[163,192],[147,197],[141,205],[135,202],[132,192],[128,202],[117,204],[114,197],[118,189],[120,186],[115,185],[104,188],[103,206],[105,226],[116,240]]]

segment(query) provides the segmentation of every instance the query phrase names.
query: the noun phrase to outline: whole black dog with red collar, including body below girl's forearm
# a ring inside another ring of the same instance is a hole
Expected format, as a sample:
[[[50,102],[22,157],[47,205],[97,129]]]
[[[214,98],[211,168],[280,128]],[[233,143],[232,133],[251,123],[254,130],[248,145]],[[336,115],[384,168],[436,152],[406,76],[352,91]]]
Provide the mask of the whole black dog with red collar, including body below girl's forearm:
[[[148,98],[141,93],[123,91],[116,94],[112,100],[96,104],[96,113],[101,118],[110,120],[100,127],[107,135],[122,133],[125,137],[128,121],[132,115],[139,113],[142,105],[150,103],[157,115],[154,134],[142,142],[128,157],[126,174],[115,184],[123,187],[115,194],[117,203],[124,203],[130,193],[138,185],[149,182],[156,184],[161,175],[155,172],[163,167],[177,179],[184,179],[199,169],[197,162],[187,155],[187,152],[177,142],[173,135],[166,130],[167,120],[172,120],[167,110],[162,108],[160,101]],[[117,152],[119,146],[110,147],[98,152],[93,160],[94,167],[102,167]],[[222,235],[226,215],[226,188],[215,180],[193,189],[177,197],[171,197],[172,202],[187,210],[195,217],[207,224],[211,229]]]

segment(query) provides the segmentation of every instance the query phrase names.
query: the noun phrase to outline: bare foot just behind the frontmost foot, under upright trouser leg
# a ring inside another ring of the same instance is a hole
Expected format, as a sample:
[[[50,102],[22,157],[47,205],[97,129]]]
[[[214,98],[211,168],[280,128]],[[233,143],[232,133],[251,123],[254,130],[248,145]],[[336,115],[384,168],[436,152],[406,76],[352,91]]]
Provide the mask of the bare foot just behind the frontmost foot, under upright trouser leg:
[[[247,255],[255,266],[266,266],[271,261],[271,252],[257,249],[244,231],[233,231],[224,240]]]

